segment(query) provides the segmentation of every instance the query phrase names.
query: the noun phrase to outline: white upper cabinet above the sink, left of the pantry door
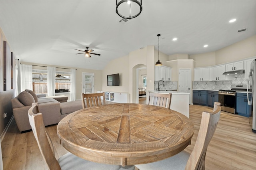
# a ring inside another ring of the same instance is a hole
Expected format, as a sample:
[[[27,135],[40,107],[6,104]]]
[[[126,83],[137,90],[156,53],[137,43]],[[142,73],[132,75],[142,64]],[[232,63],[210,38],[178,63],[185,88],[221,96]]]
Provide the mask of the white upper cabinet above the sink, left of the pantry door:
[[[155,81],[164,80],[170,81],[172,68],[166,66],[155,66]]]

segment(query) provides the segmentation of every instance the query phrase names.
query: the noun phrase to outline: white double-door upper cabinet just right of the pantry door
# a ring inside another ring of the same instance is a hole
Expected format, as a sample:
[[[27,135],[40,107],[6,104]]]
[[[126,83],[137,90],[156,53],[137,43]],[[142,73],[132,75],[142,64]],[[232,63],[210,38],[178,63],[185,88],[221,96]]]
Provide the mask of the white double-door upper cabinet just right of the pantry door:
[[[210,81],[212,68],[195,68],[194,69],[194,81]]]

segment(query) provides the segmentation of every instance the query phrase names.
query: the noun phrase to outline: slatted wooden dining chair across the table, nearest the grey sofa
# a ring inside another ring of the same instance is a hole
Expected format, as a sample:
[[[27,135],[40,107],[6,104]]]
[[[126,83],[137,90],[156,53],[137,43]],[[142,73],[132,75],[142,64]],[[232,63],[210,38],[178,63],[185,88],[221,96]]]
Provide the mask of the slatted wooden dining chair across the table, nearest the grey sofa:
[[[102,97],[102,101],[101,101]],[[86,103],[85,103],[86,101]],[[84,94],[82,93],[82,106],[83,109],[86,107],[93,107],[93,106],[100,106],[100,105],[105,105],[106,100],[105,100],[105,92],[102,93],[88,93]]]

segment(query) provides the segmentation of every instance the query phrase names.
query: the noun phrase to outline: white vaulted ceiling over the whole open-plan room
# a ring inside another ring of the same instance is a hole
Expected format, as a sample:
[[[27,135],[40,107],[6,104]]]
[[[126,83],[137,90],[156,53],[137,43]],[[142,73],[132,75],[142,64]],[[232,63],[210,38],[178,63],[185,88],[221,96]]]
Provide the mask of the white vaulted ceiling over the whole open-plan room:
[[[158,49],[157,34],[167,55],[216,51],[256,34],[256,0],[142,0],[142,7],[119,23],[115,0],[0,0],[0,26],[20,61],[99,70],[141,47]],[[86,46],[101,56],[75,55]]]

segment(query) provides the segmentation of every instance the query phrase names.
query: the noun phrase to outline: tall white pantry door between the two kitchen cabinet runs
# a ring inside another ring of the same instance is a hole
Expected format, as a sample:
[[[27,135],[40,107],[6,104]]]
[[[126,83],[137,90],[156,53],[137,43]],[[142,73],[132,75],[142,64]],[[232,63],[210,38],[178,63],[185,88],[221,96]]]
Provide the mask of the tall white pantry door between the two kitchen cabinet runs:
[[[179,69],[179,91],[189,93],[191,104],[191,69]]]

